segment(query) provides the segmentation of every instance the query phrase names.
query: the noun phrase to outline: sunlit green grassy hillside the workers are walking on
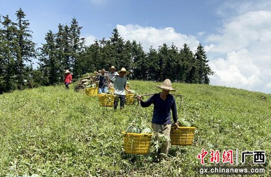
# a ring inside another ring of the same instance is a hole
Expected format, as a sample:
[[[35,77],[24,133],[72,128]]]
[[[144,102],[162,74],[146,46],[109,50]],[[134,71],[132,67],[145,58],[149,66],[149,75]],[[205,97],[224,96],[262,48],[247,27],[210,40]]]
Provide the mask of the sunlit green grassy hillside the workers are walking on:
[[[130,83],[140,94],[160,91],[158,83]],[[62,85],[0,95],[0,176],[191,177],[198,176],[202,148],[266,150],[266,176],[271,174],[270,94],[208,85],[173,87],[185,95],[186,117],[197,131],[193,146],[171,146],[170,160],[160,163],[154,162],[153,148],[147,156],[124,153],[120,131],[135,105],[114,112],[100,107],[97,97]],[[144,109],[149,121],[152,110]],[[178,116],[183,113],[182,108]]]

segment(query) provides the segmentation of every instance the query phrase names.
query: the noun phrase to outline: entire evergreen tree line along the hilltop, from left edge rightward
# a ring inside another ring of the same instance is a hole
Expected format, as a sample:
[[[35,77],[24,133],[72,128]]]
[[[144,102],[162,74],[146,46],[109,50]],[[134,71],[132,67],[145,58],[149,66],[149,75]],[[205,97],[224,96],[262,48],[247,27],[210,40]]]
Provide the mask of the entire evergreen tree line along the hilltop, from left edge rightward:
[[[0,92],[49,86],[63,83],[65,69],[70,69],[74,78],[114,65],[125,67],[132,79],[209,84],[208,75],[213,74],[208,66],[204,48],[199,44],[195,54],[187,44],[178,49],[174,44],[163,44],[157,50],[152,47],[144,52],[135,40],[125,41],[113,29],[109,39],[95,40],[86,46],[80,37],[81,29],[75,18],[69,25],[58,25],[56,33],[49,30],[45,43],[35,49],[30,23],[20,8],[17,20],[0,16]],[[33,68],[33,60],[38,60]]]

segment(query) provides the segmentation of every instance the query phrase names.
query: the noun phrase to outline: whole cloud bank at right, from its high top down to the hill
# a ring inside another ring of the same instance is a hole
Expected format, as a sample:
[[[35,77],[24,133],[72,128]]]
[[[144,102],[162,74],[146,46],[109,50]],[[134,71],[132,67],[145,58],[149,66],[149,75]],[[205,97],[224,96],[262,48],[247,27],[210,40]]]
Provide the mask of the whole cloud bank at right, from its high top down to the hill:
[[[220,34],[211,34],[206,45],[215,71],[211,84],[271,92],[271,11],[253,11],[231,18]]]

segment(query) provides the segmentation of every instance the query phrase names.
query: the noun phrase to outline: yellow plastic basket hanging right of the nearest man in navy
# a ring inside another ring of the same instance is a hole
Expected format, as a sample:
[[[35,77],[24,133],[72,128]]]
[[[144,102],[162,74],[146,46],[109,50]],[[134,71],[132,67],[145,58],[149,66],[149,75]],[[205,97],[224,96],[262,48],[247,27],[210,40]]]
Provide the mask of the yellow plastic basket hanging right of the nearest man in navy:
[[[170,129],[171,145],[187,146],[192,145],[194,140],[195,127],[175,127]]]

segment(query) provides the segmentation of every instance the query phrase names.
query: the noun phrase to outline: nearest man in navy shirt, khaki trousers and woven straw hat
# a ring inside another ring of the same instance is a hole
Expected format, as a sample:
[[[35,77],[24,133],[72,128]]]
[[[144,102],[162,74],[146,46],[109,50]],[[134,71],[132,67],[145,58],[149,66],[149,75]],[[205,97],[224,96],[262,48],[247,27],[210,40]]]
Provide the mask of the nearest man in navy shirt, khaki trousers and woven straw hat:
[[[142,101],[141,96],[137,95],[137,100],[140,101],[142,107],[148,107],[151,104],[154,105],[153,116],[152,116],[152,129],[155,132],[164,134],[170,139],[170,128],[171,128],[171,115],[174,120],[174,125],[178,126],[177,123],[177,108],[174,97],[169,94],[169,91],[176,91],[171,87],[171,81],[166,79],[161,86],[157,86],[162,89],[162,92],[156,93],[151,96],[147,101]],[[158,150],[158,155],[160,158],[166,158],[165,155],[169,151],[169,142],[162,146]]]

